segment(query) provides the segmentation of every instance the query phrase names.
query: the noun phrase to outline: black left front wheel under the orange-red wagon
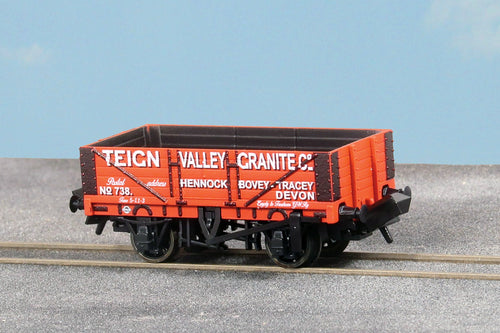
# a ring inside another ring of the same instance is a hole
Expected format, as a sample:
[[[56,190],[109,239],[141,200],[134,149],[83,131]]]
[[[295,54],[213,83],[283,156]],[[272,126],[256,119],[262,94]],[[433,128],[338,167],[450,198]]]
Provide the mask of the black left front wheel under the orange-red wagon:
[[[179,234],[168,224],[139,225],[130,232],[134,250],[147,262],[159,263],[174,259],[179,251]]]

